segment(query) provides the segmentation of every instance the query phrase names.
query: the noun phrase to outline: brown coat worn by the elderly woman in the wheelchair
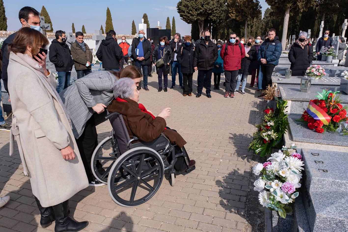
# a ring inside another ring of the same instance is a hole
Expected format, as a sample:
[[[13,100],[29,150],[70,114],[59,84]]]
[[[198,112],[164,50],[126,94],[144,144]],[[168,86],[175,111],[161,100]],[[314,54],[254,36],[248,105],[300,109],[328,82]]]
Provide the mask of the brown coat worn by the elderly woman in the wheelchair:
[[[114,99],[108,106],[108,111],[123,115],[130,138],[136,136],[141,141],[151,142],[163,132],[172,144],[179,147],[186,144],[186,141],[175,130],[165,129],[167,124],[164,118],[156,117],[153,119],[150,114],[139,109],[137,102],[129,98],[125,100],[127,102],[118,102]]]

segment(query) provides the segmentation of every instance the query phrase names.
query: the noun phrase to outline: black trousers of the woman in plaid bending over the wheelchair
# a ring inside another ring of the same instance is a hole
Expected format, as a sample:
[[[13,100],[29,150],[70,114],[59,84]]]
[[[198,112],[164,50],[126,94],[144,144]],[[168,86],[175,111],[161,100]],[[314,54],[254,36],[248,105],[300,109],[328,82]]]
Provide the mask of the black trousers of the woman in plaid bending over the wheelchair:
[[[84,164],[88,181],[94,181],[95,177],[90,167],[93,151],[98,145],[98,134],[95,127],[95,120],[92,116],[87,122],[82,135],[76,139],[77,147],[80,151],[82,163]],[[101,166],[101,165],[100,165]]]

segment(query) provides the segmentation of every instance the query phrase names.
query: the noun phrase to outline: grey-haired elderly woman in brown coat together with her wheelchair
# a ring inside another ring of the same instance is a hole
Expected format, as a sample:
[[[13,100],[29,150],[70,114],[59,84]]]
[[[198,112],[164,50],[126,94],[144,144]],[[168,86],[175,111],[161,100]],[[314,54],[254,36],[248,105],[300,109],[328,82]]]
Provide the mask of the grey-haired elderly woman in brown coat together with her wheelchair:
[[[136,206],[157,192],[164,177],[173,186],[175,176],[194,170],[196,162],[188,157],[186,141],[166,127],[170,108],[155,117],[137,103],[139,90],[129,78],[115,83],[114,97],[106,116],[113,130],[94,151],[92,170],[99,181],[108,184],[114,202]]]

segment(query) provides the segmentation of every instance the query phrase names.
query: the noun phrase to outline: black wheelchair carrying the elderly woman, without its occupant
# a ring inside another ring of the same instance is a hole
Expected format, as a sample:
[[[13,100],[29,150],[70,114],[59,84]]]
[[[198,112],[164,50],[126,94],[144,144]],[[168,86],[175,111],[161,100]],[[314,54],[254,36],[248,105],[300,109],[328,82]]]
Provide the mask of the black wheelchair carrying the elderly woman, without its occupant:
[[[132,207],[148,201],[164,178],[174,186],[177,158],[183,157],[189,167],[185,148],[171,144],[163,133],[149,143],[137,137],[130,139],[120,113],[111,113],[105,119],[112,125],[111,136],[94,150],[91,168],[98,181],[108,184],[109,194],[118,205]]]

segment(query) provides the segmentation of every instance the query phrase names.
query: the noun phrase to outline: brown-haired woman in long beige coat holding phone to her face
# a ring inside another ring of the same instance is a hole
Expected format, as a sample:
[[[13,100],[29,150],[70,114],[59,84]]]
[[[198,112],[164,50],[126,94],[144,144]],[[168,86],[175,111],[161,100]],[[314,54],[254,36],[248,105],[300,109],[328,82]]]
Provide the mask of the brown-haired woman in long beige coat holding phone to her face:
[[[10,154],[14,136],[23,173],[30,178],[40,224],[56,221],[55,232],[80,231],[88,222],[69,217],[69,199],[88,186],[68,115],[46,69],[47,38],[23,27],[9,45],[8,90],[12,105]]]

